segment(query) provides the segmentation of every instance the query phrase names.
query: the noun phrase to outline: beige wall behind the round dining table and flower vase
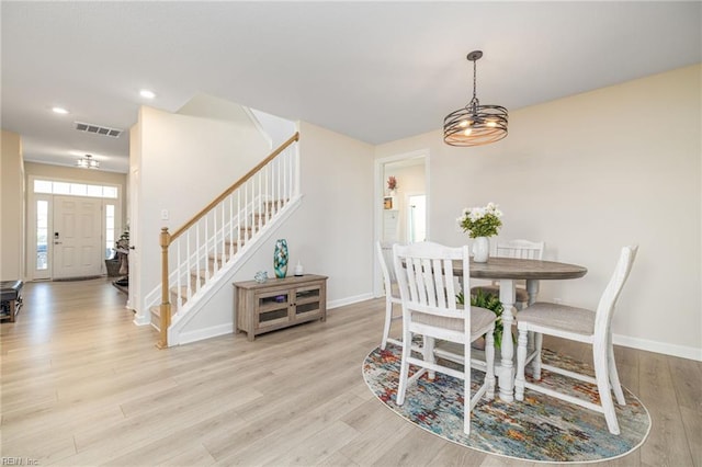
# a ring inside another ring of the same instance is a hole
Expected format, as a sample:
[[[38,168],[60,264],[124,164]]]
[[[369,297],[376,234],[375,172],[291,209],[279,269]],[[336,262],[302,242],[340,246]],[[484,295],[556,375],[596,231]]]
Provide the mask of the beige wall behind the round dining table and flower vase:
[[[376,148],[429,148],[431,238],[466,242],[461,209],[498,203],[505,238],[582,264],[540,297],[596,307],[619,249],[639,244],[613,318],[615,342],[702,358],[701,66],[510,112],[509,136],[452,148],[431,132]]]

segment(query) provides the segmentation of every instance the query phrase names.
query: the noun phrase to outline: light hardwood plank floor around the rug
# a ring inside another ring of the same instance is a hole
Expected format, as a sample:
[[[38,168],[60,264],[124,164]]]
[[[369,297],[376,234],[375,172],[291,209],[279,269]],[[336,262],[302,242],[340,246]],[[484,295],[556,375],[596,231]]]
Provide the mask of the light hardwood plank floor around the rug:
[[[106,280],[26,284],[24,301],[0,326],[3,465],[537,465],[445,442],[371,395],[361,363],[381,340],[382,299],[254,342],[163,351]],[[585,348],[546,345],[588,360]],[[600,465],[700,466],[702,364],[625,348],[616,357],[653,430]]]

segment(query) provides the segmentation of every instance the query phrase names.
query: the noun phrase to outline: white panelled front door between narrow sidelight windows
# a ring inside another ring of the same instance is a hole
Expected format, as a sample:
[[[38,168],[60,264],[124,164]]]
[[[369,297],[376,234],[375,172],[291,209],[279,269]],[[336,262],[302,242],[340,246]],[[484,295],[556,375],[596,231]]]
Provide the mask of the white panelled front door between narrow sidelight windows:
[[[102,200],[54,196],[54,278],[100,275],[102,241]]]

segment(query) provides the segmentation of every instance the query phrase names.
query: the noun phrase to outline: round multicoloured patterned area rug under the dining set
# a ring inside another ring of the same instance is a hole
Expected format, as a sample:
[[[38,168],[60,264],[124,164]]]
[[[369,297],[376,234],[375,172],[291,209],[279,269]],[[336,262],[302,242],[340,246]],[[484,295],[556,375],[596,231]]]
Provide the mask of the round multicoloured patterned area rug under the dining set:
[[[544,363],[593,375],[589,365],[544,350]],[[387,408],[417,426],[448,441],[489,454],[543,463],[593,463],[624,456],[641,446],[650,430],[650,417],[643,403],[626,388],[626,406],[615,403],[621,434],[612,435],[604,415],[525,389],[524,401],[483,399],[471,417],[471,435],[463,433],[463,385],[460,379],[437,373],[407,389],[405,403],[397,406],[400,349],[388,344],[371,352],[363,362],[363,378]],[[410,368],[410,374],[414,369]],[[484,373],[472,372],[473,388]],[[529,376],[528,376],[529,377]],[[542,371],[542,377],[591,400],[597,387]],[[497,390],[496,390],[497,394]]]

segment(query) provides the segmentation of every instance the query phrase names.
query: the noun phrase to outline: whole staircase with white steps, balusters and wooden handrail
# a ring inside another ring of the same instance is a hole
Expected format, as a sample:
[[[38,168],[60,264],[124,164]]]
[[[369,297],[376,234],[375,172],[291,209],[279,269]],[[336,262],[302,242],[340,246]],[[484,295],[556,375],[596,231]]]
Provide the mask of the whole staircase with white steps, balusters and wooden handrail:
[[[172,234],[161,229],[161,285],[145,297],[157,346],[178,344],[178,332],[301,202],[295,134]]]

